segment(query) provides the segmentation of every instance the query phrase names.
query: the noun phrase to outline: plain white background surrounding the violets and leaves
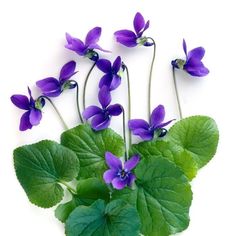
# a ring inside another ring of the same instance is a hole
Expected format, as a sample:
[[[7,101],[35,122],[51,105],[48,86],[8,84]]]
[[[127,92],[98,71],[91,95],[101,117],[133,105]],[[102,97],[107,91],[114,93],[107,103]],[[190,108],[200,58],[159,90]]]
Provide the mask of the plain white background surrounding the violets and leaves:
[[[38,127],[18,131],[22,114],[10,102],[14,93],[26,93],[26,86],[37,94],[35,82],[57,76],[61,66],[74,59],[83,83],[91,62],[78,58],[64,48],[65,32],[84,38],[94,26],[102,26],[100,45],[121,55],[129,66],[132,83],[132,117],[146,118],[147,78],[152,48],[127,50],[115,43],[113,32],[132,29],[137,11],[150,19],[147,36],[157,42],[157,60],[153,74],[152,107],[164,104],[166,119],[178,118],[170,61],[182,57],[182,39],[188,48],[204,46],[204,63],[210,69],[205,78],[191,78],[177,73],[184,116],[212,116],[220,130],[217,155],[192,182],[194,199],[189,228],[183,236],[235,235],[235,7],[234,1],[32,1],[7,0],[0,3],[1,68],[1,155],[0,155],[0,235],[64,235],[63,225],[54,218],[53,209],[40,209],[29,203],[18,183],[12,162],[16,146],[41,139],[59,140],[63,131],[50,106],[44,110]],[[102,75],[95,70],[88,91],[88,104],[96,100],[97,82]],[[114,100],[125,102],[125,82],[114,92]],[[77,124],[74,91],[55,99],[70,125]],[[120,132],[121,119],[112,126]]]

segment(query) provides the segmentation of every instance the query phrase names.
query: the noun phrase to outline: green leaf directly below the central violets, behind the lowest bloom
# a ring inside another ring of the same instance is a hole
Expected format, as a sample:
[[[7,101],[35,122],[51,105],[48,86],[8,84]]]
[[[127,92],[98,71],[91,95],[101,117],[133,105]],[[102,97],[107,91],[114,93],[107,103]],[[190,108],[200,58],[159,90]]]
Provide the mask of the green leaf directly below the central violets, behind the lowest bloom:
[[[120,135],[112,129],[95,132],[88,124],[64,132],[61,143],[76,153],[80,160],[80,177],[83,178],[102,178],[107,169],[105,152],[124,155],[124,141]]]

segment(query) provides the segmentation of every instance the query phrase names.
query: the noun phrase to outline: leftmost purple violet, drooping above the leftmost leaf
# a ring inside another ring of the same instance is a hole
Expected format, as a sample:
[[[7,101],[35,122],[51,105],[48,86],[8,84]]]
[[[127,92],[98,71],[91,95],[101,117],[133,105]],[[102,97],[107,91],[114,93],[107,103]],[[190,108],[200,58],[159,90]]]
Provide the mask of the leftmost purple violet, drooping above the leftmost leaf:
[[[31,95],[31,90],[28,87],[29,98],[25,95],[15,94],[11,96],[12,103],[26,112],[22,115],[20,119],[20,131],[25,131],[31,129],[33,126],[36,126],[40,123],[42,119],[41,109],[45,105],[45,100],[33,99]]]

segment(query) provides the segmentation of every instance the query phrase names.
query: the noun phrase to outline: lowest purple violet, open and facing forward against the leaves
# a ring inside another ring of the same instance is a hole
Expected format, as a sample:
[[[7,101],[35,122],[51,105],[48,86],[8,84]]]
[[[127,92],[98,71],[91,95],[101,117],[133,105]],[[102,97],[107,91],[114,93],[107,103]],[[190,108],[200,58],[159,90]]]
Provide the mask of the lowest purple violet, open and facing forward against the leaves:
[[[131,157],[124,163],[124,167],[122,167],[121,160],[110,152],[106,152],[105,158],[110,169],[104,172],[104,181],[107,184],[111,183],[115,189],[123,189],[126,186],[131,187],[136,179],[131,170],[139,163],[139,156]]]

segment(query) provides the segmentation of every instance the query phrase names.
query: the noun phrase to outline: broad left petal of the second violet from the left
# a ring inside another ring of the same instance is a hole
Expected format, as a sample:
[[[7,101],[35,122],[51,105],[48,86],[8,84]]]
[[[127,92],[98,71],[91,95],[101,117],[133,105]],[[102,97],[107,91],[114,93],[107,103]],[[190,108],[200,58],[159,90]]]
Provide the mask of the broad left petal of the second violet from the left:
[[[53,77],[48,77],[36,82],[42,93],[48,97],[57,97],[61,94],[61,85],[59,81]]]

